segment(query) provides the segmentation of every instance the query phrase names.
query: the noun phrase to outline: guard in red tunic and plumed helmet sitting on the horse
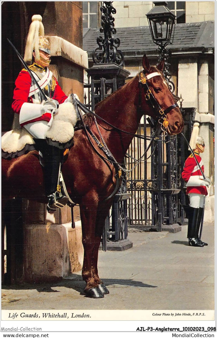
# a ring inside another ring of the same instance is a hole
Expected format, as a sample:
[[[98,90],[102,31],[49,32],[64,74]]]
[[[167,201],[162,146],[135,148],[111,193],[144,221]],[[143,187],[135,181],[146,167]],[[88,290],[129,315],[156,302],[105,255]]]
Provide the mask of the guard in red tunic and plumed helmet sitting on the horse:
[[[71,95],[69,97],[65,95],[49,70],[50,56],[49,42],[44,37],[42,17],[33,15],[27,35],[24,61],[31,64],[28,68],[38,81],[47,100],[43,100],[28,71],[23,69],[15,82],[12,109],[20,115],[21,127],[33,136],[43,156],[45,193],[48,196],[47,211],[52,213],[57,208],[64,207],[68,202],[68,197],[59,186],[64,146],[52,141],[47,135],[49,135],[55,114],[58,114],[59,104],[72,103],[72,98]],[[68,143],[67,146],[71,144]]]

